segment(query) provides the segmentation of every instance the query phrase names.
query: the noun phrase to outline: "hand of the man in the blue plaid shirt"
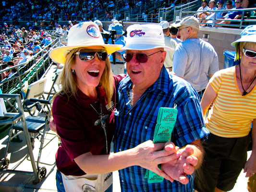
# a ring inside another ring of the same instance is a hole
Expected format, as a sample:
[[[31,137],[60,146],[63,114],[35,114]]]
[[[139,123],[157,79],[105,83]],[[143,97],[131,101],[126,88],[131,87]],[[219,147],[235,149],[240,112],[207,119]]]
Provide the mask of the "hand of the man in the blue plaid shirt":
[[[198,159],[193,156],[194,149],[190,144],[186,145],[183,149],[180,149],[177,153],[181,154],[179,158],[163,163],[161,168],[173,180],[177,180],[182,184],[187,184],[189,182],[187,175],[194,173],[195,166],[198,164]]]

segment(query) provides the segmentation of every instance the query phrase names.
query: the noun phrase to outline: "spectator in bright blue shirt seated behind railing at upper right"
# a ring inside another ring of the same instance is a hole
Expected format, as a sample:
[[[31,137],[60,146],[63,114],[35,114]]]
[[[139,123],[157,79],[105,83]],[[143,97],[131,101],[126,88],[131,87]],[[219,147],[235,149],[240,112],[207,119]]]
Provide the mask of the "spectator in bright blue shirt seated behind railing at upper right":
[[[231,0],[228,0],[227,5],[231,4]],[[230,24],[232,22],[232,19],[238,19],[242,16],[243,12],[242,11],[232,11],[236,9],[244,9],[242,6],[242,0],[236,0],[235,1],[235,8],[231,9],[229,12],[227,12],[222,19],[226,19],[225,21],[219,22],[219,24]],[[215,26],[219,26],[215,25]]]

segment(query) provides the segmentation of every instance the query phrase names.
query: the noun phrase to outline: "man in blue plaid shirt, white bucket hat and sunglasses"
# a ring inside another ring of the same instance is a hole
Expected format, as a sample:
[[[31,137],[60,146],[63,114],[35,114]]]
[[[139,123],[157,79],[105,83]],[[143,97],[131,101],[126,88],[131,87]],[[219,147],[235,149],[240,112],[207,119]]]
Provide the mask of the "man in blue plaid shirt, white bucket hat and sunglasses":
[[[207,139],[200,99],[191,84],[169,74],[164,67],[166,50],[162,27],[134,24],[127,28],[126,61],[128,76],[118,86],[119,104],[115,110],[114,152],[130,149],[154,139],[160,107],[177,105],[177,120],[171,141],[182,148],[180,158],[162,164],[161,168],[174,181],[148,183],[145,168],[133,166],[119,171],[122,191],[192,191],[191,174],[201,164],[201,141]]]

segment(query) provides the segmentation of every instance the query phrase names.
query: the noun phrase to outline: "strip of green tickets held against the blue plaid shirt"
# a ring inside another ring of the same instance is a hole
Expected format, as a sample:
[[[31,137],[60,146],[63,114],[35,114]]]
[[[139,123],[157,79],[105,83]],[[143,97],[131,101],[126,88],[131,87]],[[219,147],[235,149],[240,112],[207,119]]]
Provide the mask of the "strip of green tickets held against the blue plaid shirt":
[[[177,105],[175,104],[173,108],[159,108],[157,125],[154,132],[153,143],[166,143],[171,141],[171,133],[174,129],[175,122],[177,119]],[[158,165],[161,168],[161,165]],[[148,183],[158,183],[163,181],[163,177],[154,173],[153,171],[146,170],[144,176]]]

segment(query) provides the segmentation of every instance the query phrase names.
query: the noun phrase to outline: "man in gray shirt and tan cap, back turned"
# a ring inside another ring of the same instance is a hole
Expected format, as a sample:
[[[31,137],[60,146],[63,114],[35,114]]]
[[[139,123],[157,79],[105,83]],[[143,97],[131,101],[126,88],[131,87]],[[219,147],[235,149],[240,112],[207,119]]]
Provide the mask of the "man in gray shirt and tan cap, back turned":
[[[208,76],[219,71],[218,55],[211,44],[197,38],[199,22],[194,16],[185,17],[178,33],[183,42],[176,46],[172,59],[172,71],[193,85],[200,98],[208,83]]]

